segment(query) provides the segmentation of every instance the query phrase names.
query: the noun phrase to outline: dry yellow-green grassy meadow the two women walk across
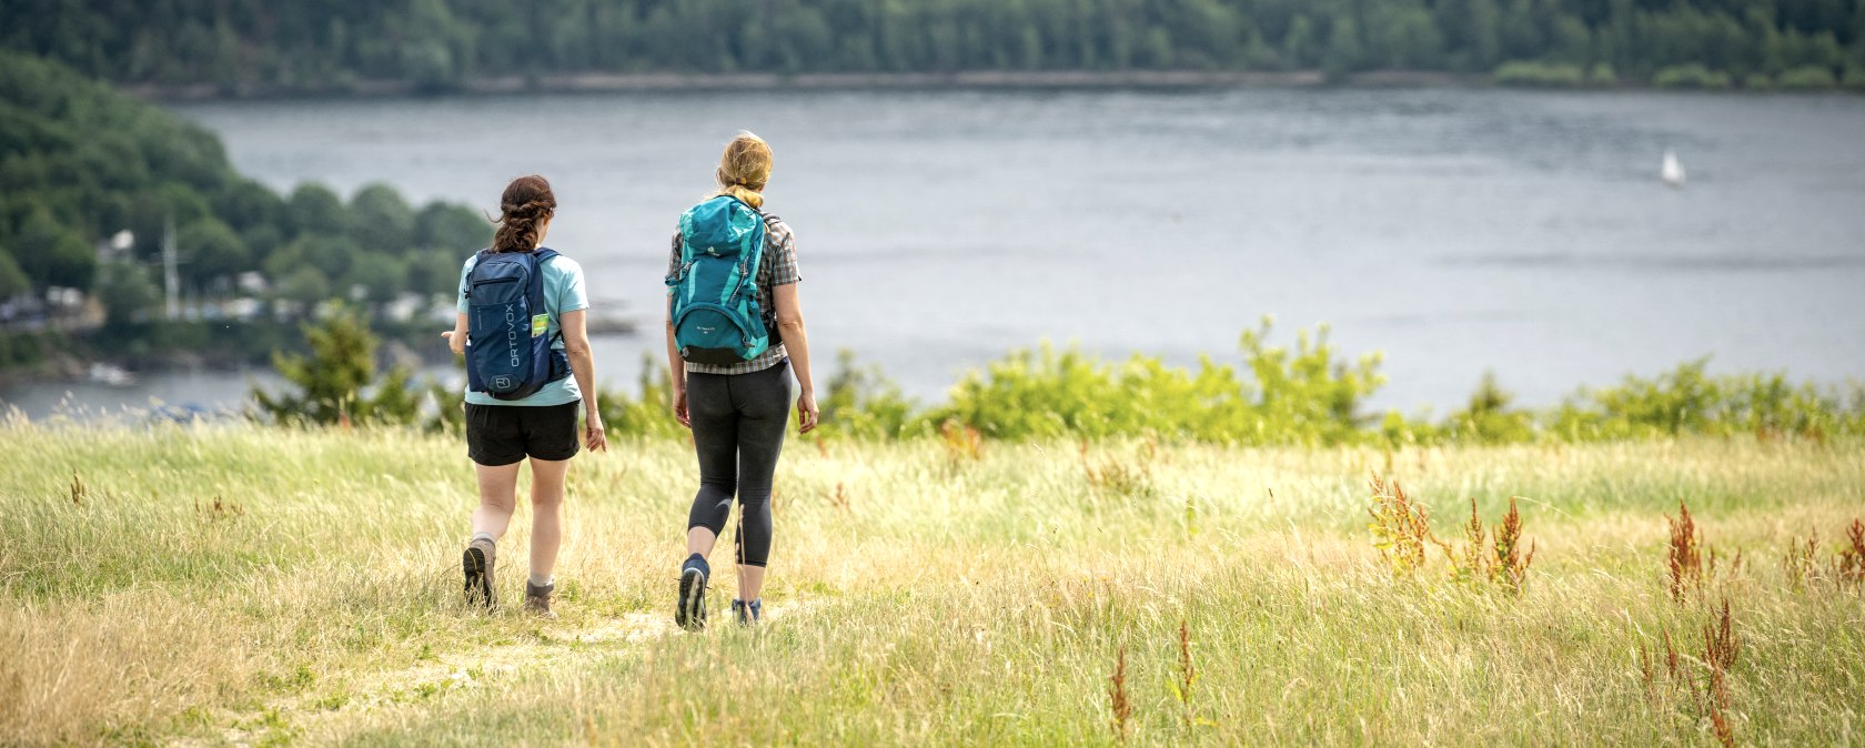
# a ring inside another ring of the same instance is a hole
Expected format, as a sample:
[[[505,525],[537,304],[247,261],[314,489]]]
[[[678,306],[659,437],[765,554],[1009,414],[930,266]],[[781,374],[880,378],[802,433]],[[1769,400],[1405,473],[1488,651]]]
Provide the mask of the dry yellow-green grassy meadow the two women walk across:
[[[793,438],[767,623],[701,634],[671,625],[684,440],[576,459],[556,621],[461,603],[457,438],[0,442],[0,744],[1865,744],[1856,440]],[[1520,593],[1436,545],[1395,571],[1371,472],[1453,548],[1520,496]]]

